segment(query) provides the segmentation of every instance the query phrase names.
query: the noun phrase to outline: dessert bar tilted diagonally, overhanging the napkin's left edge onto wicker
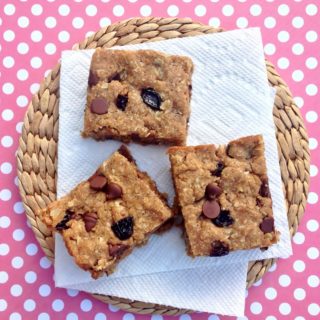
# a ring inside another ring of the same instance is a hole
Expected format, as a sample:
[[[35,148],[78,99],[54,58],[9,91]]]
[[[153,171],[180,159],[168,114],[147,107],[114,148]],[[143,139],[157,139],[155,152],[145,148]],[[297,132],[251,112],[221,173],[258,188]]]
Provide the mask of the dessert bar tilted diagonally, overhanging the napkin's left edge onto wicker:
[[[149,176],[122,146],[96,173],[40,212],[61,233],[75,262],[93,278],[145,244],[172,211]]]

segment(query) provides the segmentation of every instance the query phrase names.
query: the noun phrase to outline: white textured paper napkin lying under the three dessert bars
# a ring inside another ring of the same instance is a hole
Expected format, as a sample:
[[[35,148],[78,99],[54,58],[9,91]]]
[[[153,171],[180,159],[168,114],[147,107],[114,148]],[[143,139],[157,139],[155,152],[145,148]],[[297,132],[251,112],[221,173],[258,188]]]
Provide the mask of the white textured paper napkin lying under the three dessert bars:
[[[128,48],[127,46],[126,49]],[[221,258],[191,259],[185,255],[185,245],[180,237],[180,231],[174,228],[161,237],[153,236],[147,246],[136,249],[132,255],[121,262],[116,273],[108,279],[99,280],[99,282],[105,281],[104,290],[108,291],[111,288],[111,285],[109,287],[111,281],[120,281],[123,277],[139,275],[141,280],[143,274],[151,277],[152,274],[157,273],[157,276],[162,278],[164,272],[169,273],[170,271],[172,275],[175,275],[178,271],[172,271],[184,269],[188,269],[188,271],[184,271],[186,274],[190,272],[201,276],[202,273],[200,271],[199,273],[196,272],[195,268],[205,270],[206,267],[210,267],[211,270],[216,270],[216,268],[221,269],[220,264],[225,265],[225,263],[241,261],[243,263],[239,267],[233,266],[232,268],[234,268],[235,273],[240,275],[240,278],[241,276],[245,278],[245,262],[269,257],[289,256],[291,245],[271,112],[273,103],[270,100],[267,85],[259,30],[248,29],[193,38],[172,39],[130,46],[130,48],[156,49],[171,54],[188,55],[193,59],[195,71],[188,144],[226,143],[240,136],[263,133],[266,143],[275,223],[277,229],[281,232],[281,240],[279,244],[263,253],[260,250],[246,250]],[[63,196],[81,180],[89,177],[96,167],[120,145],[115,141],[96,142],[92,139],[83,139],[80,136],[91,55],[92,51],[66,51],[62,56],[58,197]],[[170,200],[172,201],[173,188],[170,171],[168,170],[169,162],[165,154],[166,147],[131,144],[130,150],[137,159],[138,165],[143,170],[148,171],[156,180],[161,191],[168,192],[171,195]],[[92,281],[88,274],[77,268],[74,263],[59,258],[63,255],[64,250],[64,245],[57,241],[57,259],[55,260],[57,285],[72,286]],[[229,267],[231,268],[231,266]],[[223,269],[220,271],[223,271]],[[216,272],[213,273],[216,274]],[[195,277],[190,277],[188,283],[191,281],[196,285]],[[221,272],[219,278],[227,281],[229,274]],[[173,283],[178,285],[176,282]],[[181,283],[180,285],[183,287],[186,284]],[[242,288],[242,291],[236,292],[240,297],[237,303],[243,307],[244,301],[241,300],[241,297],[243,296],[245,281],[241,284],[234,283],[234,286],[235,290]],[[90,286],[90,291],[95,290],[93,287]],[[120,287],[115,286],[113,289],[117,290]],[[218,292],[224,292],[225,286],[218,289]],[[108,294],[106,291],[104,293]],[[119,296],[124,296],[125,293],[120,291],[119,289]],[[112,292],[112,294],[117,295],[116,291]],[[137,299],[134,292],[130,293],[128,291],[126,294],[132,294],[131,298]],[[171,305],[178,306],[179,304],[179,307],[182,307],[180,304],[185,303],[184,307],[190,308],[188,300],[183,300],[182,296],[169,300]],[[195,299],[195,309],[200,303],[199,300],[201,299]],[[217,297],[213,300],[212,305],[207,305],[207,311],[219,312],[212,308],[220,305],[223,301],[217,299]],[[200,310],[200,305],[198,310]],[[201,308],[201,310],[205,309]]]

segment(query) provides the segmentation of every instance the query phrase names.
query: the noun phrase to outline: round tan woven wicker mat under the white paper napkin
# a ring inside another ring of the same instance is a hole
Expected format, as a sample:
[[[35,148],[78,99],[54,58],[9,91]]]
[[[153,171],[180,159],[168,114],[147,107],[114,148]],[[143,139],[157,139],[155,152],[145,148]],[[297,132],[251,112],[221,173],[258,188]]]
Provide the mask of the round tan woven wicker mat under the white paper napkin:
[[[191,19],[135,18],[115,23],[101,29],[73,49],[86,49],[115,45],[157,41],[177,37],[196,36],[222,32],[193,22]],[[283,189],[288,208],[288,220],[293,235],[303,216],[308,186],[310,152],[308,136],[300,111],[292,99],[289,88],[274,69],[266,62],[269,83],[277,89],[274,104],[274,121],[280,154]],[[54,241],[51,231],[37,217],[37,210],[56,198],[56,165],[59,124],[58,64],[42,81],[28,107],[17,153],[19,189],[28,219],[45,254],[54,259]],[[249,264],[247,286],[259,280],[274,263],[274,259]],[[120,309],[141,314],[177,315],[191,312],[167,306],[143,303],[127,299],[93,295],[105,303]]]

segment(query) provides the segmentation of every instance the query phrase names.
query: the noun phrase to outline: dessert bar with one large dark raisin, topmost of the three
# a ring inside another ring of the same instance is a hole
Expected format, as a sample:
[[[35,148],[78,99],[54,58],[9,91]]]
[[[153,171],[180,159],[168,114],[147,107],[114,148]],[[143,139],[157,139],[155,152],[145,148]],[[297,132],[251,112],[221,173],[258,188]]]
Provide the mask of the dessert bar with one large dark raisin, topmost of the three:
[[[187,57],[152,50],[96,49],[83,135],[184,145],[192,70]]]

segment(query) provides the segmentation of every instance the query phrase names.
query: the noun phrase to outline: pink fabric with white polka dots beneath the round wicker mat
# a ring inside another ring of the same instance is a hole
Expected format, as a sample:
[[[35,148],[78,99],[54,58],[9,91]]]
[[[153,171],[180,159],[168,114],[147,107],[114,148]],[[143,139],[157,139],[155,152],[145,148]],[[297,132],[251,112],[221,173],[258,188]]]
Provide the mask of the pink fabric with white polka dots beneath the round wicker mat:
[[[319,319],[319,11],[317,0],[1,1],[0,319],[169,319],[133,315],[85,293],[55,288],[53,267],[27,222],[16,177],[24,113],[61,51],[112,22],[149,15],[191,17],[226,29],[261,27],[266,56],[289,84],[308,128],[311,187],[294,255],[249,289],[241,319]],[[179,319],[226,317],[194,313]]]

